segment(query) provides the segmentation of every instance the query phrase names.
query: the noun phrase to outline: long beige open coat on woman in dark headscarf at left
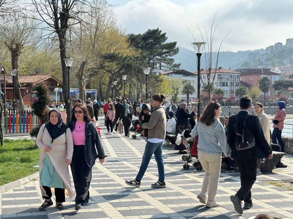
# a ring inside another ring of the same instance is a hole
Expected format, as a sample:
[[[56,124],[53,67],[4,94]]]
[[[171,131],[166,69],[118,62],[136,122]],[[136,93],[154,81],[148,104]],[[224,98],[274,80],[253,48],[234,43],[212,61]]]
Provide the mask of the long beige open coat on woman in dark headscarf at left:
[[[63,135],[60,135],[58,138],[54,139],[51,145],[51,150],[49,152],[45,152],[45,147],[50,145],[50,134],[47,131],[47,128],[45,128],[45,130],[44,128],[45,124],[41,126],[36,140],[38,147],[41,149],[39,175],[41,175],[42,168],[44,167],[43,159],[48,154],[54,168],[62,178],[68,191],[68,196],[71,199],[75,195],[75,192],[71,188],[69,170],[66,164],[66,159],[72,160],[73,154],[73,140],[71,131],[69,128],[67,128],[66,134],[64,133]],[[42,196],[47,196],[44,188],[41,185],[41,180],[40,189]]]

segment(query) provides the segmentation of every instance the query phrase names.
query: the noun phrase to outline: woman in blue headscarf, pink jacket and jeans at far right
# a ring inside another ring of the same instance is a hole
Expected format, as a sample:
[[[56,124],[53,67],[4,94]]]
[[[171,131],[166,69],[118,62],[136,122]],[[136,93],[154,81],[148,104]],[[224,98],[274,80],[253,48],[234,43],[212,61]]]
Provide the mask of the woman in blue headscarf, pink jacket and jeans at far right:
[[[284,128],[284,121],[286,117],[286,103],[284,101],[277,102],[278,112],[275,115],[275,118],[272,119],[273,125],[273,133],[272,133],[272,143],[277,144],[277,140],[279,145],[281,146],[281,151],[284,152],[284,145],[282,140],[282,130]]]

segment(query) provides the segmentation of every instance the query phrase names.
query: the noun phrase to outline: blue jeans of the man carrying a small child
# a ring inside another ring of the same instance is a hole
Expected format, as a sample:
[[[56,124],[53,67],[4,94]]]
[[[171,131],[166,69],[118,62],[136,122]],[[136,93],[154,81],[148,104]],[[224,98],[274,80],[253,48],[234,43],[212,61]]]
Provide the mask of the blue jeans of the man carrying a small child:
[[[162,145],[163,145],[163,142],[159,142],[159,143],[152,143],[149,141],[147,142],[146,147],[144,149],[144,155],[142,156],[142,164],[140,165],[139,171],[136,176],[138,180],[142,180],[144,173],[147,171],[147,166],[149,165],[151,156],[154,154],[155,160],[158,166],[158,171],[159,171],[159,181],[160,182],[165,181]]]

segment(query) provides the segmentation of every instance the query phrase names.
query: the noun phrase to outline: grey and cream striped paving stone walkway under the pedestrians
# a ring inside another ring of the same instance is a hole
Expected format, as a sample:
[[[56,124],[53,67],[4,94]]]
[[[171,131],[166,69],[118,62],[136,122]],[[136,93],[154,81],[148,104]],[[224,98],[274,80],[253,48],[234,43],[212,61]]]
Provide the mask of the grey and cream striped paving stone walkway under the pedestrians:
[[[99,117],[101,121],[103,117]],[[124,134],[107,132],[103,123],[101,139],[105,153],[109,156],[103,165],[96,164],[93,170],[88,205],[74,211],[74,198],[66,198],[60,211],[54,205],[39,211],[42,203],[39,181],[27,183],[0,194],[0,218],[6,219],[85,219],[85,218],[249,218],[260,213],[269,213],[285,219],[293,218],[293,191],[265,183],[265,181],[293,180],[293,156],[286,155],[282,162],[288,168],[277,168],[272,173],[257,176],[252,188],[253,208],[244,210],[240,216],[234,210],[230,195],[240,187],[240,173],[221,171],[216,200],[222,207],[207,208],[197,194],[201,191],[204,171],[193,166],[183,170],[184,161],[173,145],[163,146],[166,188],[152,188],[158,179],[156,162],[151,159],[141,187],[130,187],[125,180],[136,176],[142,160],[145,142],[138,135],[136,139]],[[73,181],[72,181],[73,185]],[[54,197],[54,195],[53,195]],[[54,201],[55,203],[55,201]]]

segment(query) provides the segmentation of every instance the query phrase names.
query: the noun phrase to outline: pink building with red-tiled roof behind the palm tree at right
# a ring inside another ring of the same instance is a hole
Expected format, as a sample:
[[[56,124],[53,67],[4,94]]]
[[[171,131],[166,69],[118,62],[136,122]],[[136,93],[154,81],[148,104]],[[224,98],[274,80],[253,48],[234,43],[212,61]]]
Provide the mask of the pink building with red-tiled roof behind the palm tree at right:
[[[281,77],[281,74],[278,74],[276,72],[271,72],[266,69],[251,69],[246,72],[242,72],[240,74],[241,81],[245,82],[246,84],[249,84],[250,87],[259,87],[259,80],[261,77],[268,76],[271,80],[270,83],[270,89],[268,93],[265,95],[265,100],[264,100],[264,95],[263,92],[261,93],[260,99],[268,103],[268,105],[272,105],[273,103],[276,102],[276,91],[273,88],[273,84],[277,80],[282,80],[283,78]]]

